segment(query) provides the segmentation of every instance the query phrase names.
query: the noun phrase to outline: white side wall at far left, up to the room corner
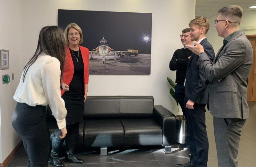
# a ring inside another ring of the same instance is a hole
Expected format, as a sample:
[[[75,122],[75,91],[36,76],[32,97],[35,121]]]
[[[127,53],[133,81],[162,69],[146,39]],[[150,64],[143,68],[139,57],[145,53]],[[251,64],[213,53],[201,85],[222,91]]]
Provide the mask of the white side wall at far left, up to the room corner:
[[[10,154],[20,141],[19,136],[13,130],[11,117],[16,102],[13,95],[22,71],[22,47],[21,47],[21,10],[20,1],[0,1],[0,49],[9,50],[9,66],[7,70],[0,70],[0,163]],[[14,80],[8,84],[2,84],[2,75],[14,73]]]

